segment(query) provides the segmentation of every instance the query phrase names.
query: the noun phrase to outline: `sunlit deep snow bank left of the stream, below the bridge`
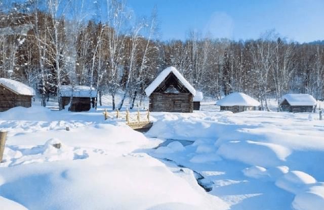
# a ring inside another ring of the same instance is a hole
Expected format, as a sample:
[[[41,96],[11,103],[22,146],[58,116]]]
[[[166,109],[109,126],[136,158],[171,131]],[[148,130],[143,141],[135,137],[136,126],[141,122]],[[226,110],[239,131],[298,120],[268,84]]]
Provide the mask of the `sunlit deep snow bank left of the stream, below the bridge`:
[[[0,165],[6,209],[228,209],[198,186],[192,171],[173,173],[136,152],[160,141],[103,121],[101,112],[15,108],[0,119],[10,132]]]

